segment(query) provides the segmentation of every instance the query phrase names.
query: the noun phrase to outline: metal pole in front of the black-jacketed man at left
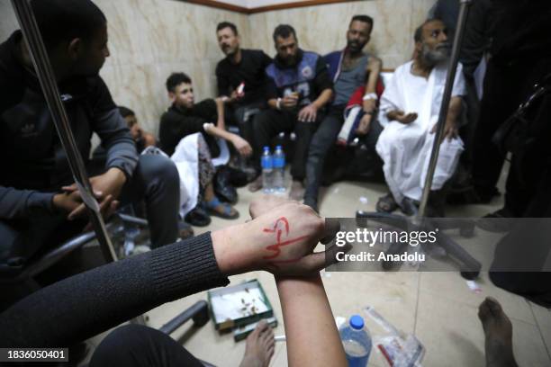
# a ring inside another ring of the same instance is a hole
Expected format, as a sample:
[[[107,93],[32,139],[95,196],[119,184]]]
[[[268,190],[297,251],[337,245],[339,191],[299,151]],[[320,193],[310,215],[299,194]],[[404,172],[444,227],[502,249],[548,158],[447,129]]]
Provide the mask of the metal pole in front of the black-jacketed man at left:
[[[28,0],[12,0],[12,5],[23,31],[24,40],[27,42],[32,64],[41,82],[42,92],[50,108],[52,120],[67,154],[71,173],[90,214],[90,221],[94,226],[97,240],[100,243],[105,260],[114,261],[117,259],[117,255],[111,239],[107,235],[99,205],[92,194],[92,185],[90,184],[90,180],[88,180],[84,161],[78,152],[77,143],[71,131],[65,106],[59,97],[58,84],[50,65],[50,58],[48,58],[48,53],[42,42],[41,32],[34,18],[34,13],[32,13],[31,4],[29,4]]]

